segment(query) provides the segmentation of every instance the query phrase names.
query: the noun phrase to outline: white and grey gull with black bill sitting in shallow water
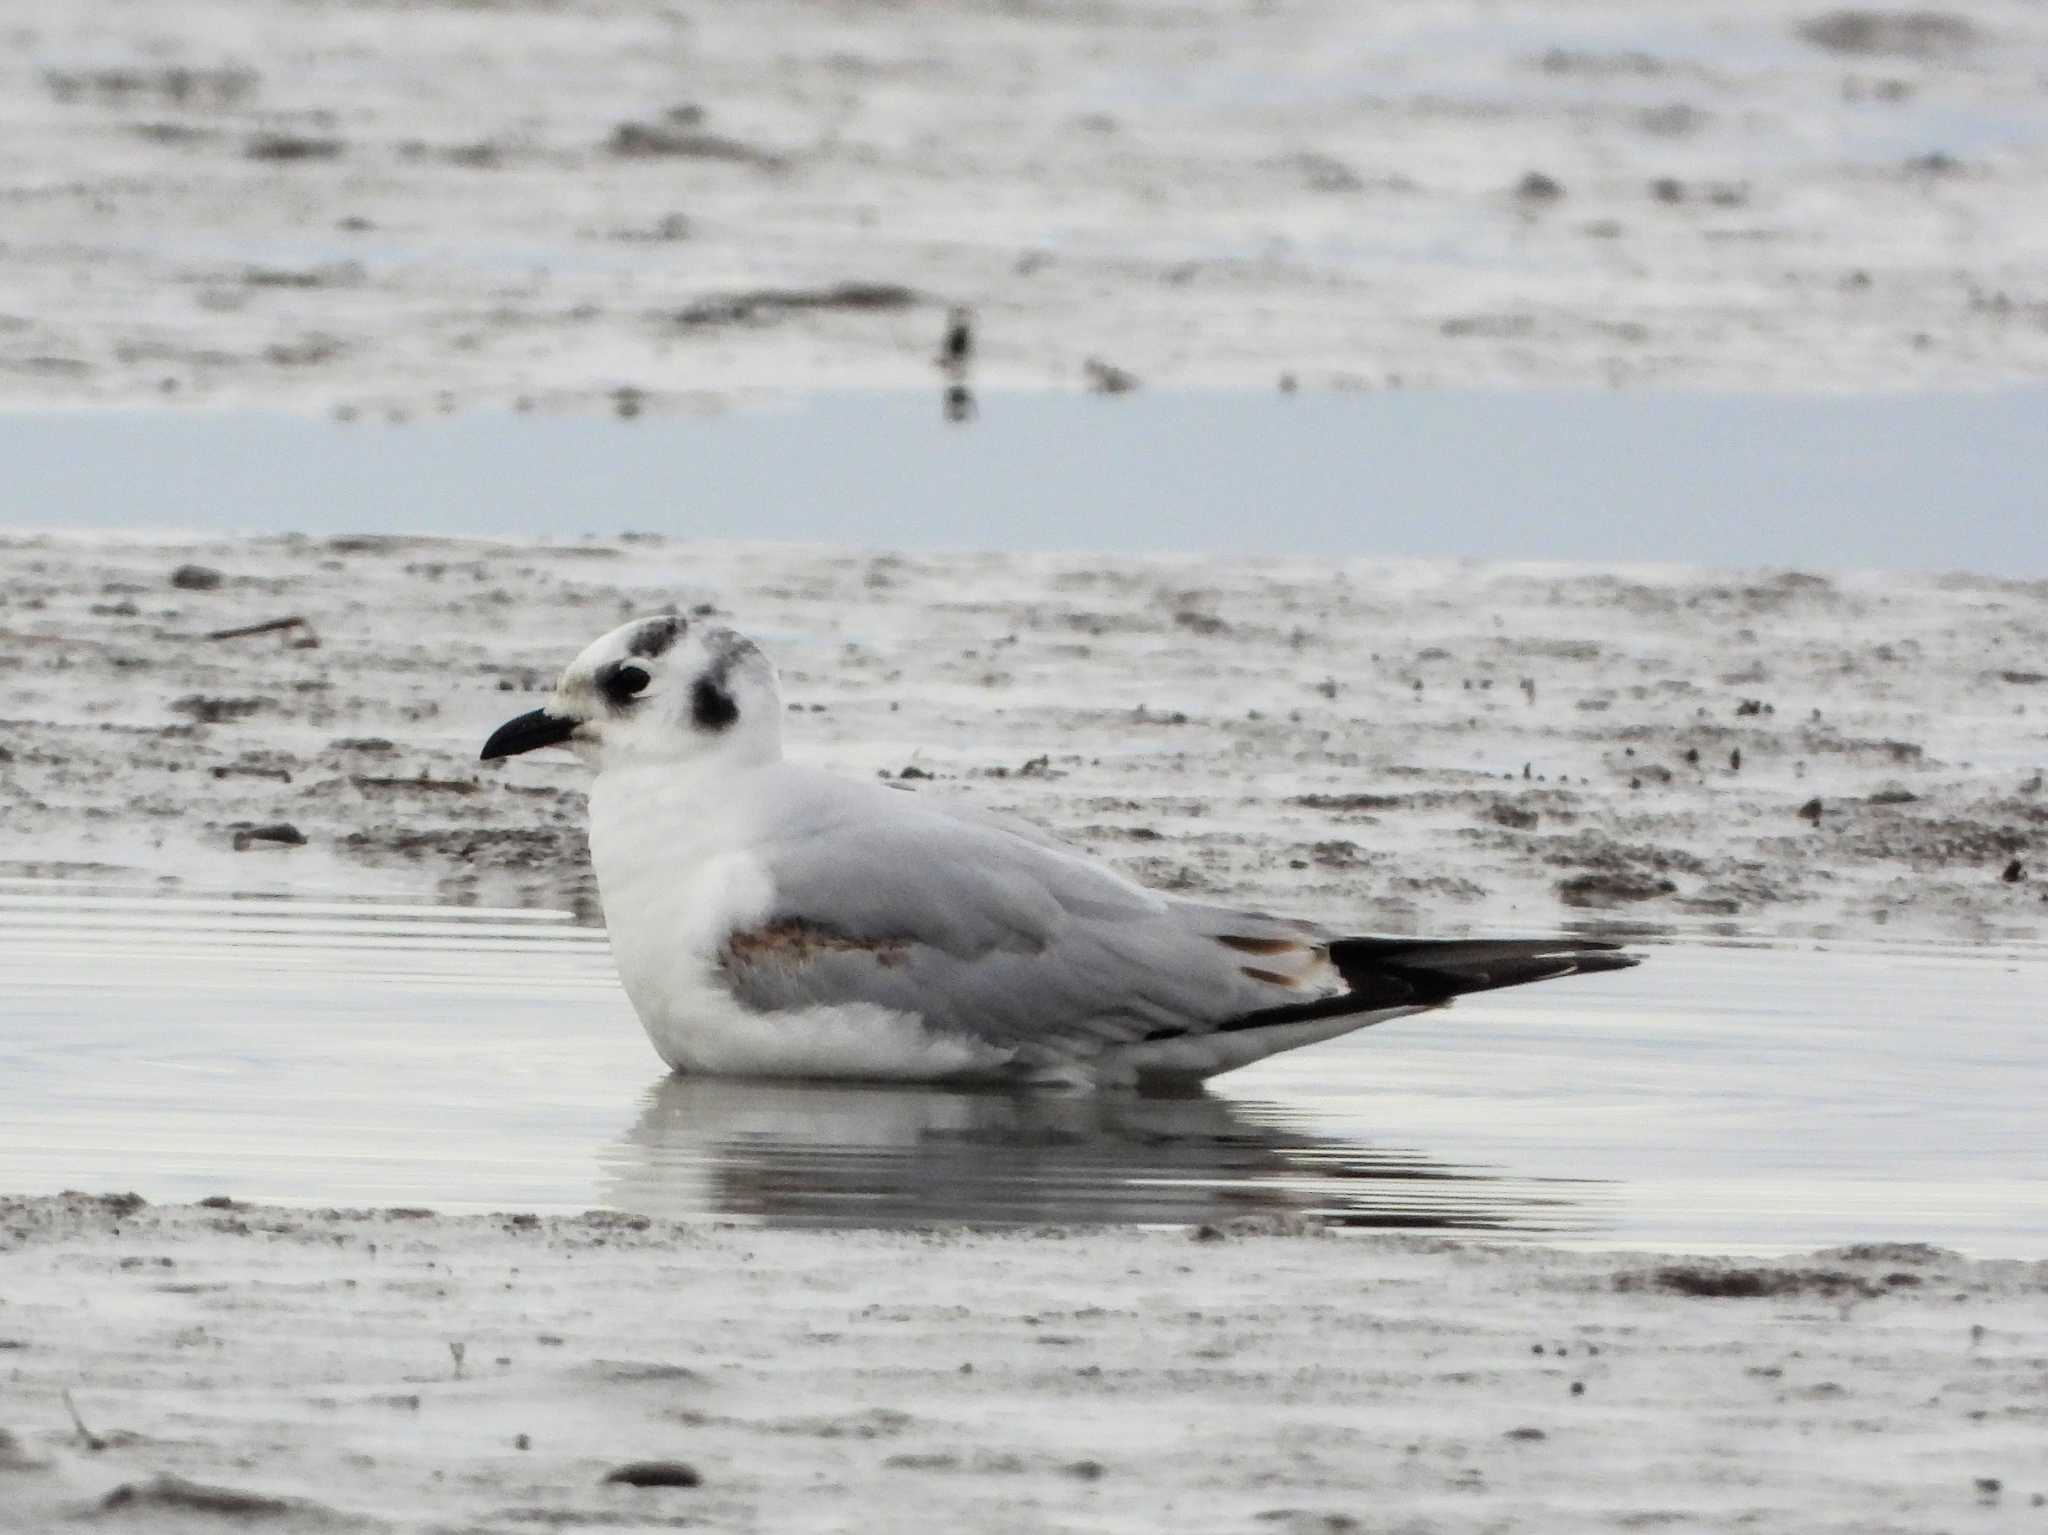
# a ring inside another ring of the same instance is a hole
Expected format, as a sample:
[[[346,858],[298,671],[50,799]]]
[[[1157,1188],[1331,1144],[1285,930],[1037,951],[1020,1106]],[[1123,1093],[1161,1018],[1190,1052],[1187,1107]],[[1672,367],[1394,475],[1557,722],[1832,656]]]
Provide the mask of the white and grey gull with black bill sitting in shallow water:
[[[483,761],[539,747],[596,770],[612,956],[678,1072],[1186,1085],[1634,964],[1612,944],[1348,935],[1182,901],[1026,821],[784,761],[774,665],[674,612],[594,641]]]

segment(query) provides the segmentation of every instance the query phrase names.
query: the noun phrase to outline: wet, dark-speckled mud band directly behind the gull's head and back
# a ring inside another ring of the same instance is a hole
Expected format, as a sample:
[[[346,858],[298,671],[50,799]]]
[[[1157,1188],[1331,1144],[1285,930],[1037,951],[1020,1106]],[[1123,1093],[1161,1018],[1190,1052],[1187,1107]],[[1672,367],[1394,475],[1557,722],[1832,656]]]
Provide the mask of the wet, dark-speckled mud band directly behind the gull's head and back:
[[[582,770],[481,768],[618,620],[793,755],[1382,929],[2038,937],[2048,585],[612,540],[0,538],[0,874],[596,917]]]

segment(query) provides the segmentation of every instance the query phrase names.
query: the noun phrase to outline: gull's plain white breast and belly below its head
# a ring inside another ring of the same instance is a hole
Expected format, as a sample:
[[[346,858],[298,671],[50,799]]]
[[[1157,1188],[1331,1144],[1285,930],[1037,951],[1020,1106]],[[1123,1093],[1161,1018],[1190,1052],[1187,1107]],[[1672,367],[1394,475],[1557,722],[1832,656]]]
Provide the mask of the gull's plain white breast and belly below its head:
[[[874,1003],[756,1011],[735,1001],[725,941],[776,907],[768,866],[752,851],[762,819],[754,778],[612,768],[590,786],[590,862],[612,960],[662,1060],[719,1077],[911,1081],[1008,1064],[1004,1048]]]

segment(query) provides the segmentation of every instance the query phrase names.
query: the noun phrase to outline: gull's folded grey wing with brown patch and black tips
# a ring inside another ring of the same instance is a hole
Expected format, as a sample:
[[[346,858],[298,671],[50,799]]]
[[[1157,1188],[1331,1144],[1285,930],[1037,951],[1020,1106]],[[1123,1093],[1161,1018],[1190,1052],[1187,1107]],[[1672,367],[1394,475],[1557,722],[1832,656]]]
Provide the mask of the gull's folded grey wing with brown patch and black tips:
[[[1470,991],[1634,964],[1579,939],[1339,937],[1176,901],[920,796],[786,778],[756,851],[766,919],[723,950],[764,1011],[874,1003],[1028,1054],[1372,1021]],[[1257,1054],[1257,1052],[1253,1052]],[[1251,1056],[1247,1056],[1251,1058]]]

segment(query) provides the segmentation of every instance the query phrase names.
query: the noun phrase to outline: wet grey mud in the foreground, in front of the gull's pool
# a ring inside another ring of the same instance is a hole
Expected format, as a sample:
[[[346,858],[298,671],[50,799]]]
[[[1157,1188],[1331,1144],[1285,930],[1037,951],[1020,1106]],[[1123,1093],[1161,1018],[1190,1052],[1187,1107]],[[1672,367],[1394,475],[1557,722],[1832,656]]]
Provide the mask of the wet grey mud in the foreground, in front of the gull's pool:
[[[10,1527],[2013,1529],[2048,1267],[0,1199]]]

